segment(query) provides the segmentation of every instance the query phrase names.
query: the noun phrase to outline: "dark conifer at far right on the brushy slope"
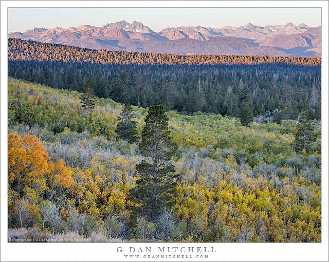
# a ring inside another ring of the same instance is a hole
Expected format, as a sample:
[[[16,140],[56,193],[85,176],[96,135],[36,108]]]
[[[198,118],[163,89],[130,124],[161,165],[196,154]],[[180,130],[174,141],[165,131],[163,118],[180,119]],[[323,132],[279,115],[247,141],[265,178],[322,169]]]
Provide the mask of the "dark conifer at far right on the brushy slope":
[[[310,124],[308,114],[305,111],[302,111],[297,125],[297,132],[295,134],[295,151],[297,153],[302,152],[303,149],[306,149],[307,145],[314,140],[315,134]]]

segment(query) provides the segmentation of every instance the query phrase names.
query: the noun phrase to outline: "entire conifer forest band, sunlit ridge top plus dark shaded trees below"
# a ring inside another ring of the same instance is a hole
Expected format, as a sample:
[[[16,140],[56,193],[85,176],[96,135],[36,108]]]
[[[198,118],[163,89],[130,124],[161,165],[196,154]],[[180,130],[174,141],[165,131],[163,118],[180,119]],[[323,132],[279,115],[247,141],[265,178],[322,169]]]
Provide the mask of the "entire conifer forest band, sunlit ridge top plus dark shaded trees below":
[[[30,50],[30,51],[29,51]],[[140,107],[246,119],[320,119],[321,58],[177,55],[89,50],[9,39],[11,77]],[[247,112],[248,116],[243,115]]]

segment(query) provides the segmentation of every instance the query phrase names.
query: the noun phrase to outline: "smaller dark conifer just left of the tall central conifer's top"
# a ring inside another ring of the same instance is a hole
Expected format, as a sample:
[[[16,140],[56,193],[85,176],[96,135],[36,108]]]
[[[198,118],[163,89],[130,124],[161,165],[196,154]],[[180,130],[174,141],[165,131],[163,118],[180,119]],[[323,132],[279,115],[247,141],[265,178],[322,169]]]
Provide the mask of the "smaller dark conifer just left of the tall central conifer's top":
[[[137,140],[137,122],[132,120],[133,118],[134,111],[132,109],[131,104],[125,103],[120,114],[119,123],[115,132],[119,135],[120,138],[122,138],[123,140],[127,140],[129,143],[136,142]]]

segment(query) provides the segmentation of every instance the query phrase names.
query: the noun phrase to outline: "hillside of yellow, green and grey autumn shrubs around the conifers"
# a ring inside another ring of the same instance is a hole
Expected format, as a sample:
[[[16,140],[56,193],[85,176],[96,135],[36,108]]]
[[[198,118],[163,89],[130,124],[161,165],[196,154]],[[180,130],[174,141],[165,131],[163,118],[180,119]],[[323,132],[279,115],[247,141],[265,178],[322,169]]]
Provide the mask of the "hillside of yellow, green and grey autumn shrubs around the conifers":
[[[150,223],[133,215],[130,189],[142,157],[137,144],[115,135],[120,104],[98,99],[95,110],[87,113],[77,91],[12,78],[8,86],[8,176],[15,179],[16,164],[21,162],[14,159],[19,159],[31,161],[29,169],[21,170],[21,178],[39,179],[24,191],[16,192],[16,183],[8,184],[8,227],[34,226],[30,236],[39,234],[44,241],[68,235],[74,235],[72,241],[168,239],[159,234],[160,220]],[[140,135],[147,109],[134,110]],[[221,115],[167,115],[178,146],[173,163],[179,175],[178,196],[166,228],[170,241],[321,241],[321,131],[316,121],[316,142],[296,154],[295,121],[244,127],[239,119]],[[29,155],[39,153],[38,158]],[[22,154],[28,157],[15,158]],[[42,159],[43,165],[38,164]],[[34,172],[45,166],[50,173]],[[57,180],[58,175],[65,179]],[[42,183],[51,194],[39,193]],[[56,220],[45,218],[44,207],[55,204],[58,208],[49,210]],[[139,230],[144,223],[147,234]],[[20,239],[23,231],[11,230],[8,237]]]

